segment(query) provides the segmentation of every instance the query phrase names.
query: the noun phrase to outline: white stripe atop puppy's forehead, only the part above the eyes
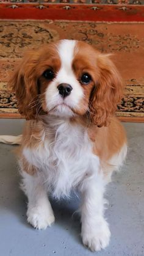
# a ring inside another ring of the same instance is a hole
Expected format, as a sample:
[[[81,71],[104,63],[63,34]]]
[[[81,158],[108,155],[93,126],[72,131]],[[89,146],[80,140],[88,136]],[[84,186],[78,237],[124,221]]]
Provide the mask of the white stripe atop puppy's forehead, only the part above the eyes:
[[[74,47],[76,46],[76,40],[60,40],[60,43],[57,47],[62,67],[71,69],[71,65],[74,58]]]

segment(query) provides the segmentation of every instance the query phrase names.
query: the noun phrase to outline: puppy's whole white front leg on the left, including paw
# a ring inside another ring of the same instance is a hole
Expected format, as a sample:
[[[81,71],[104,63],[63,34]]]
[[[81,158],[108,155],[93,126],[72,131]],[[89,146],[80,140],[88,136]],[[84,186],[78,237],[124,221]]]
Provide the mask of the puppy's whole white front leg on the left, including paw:
[[[21,188],[28,198],[27,222],[35,229],[46,229],[54,222],[54,214],[48,200],[45,186],[38,175],[29,175],[22,171]]]

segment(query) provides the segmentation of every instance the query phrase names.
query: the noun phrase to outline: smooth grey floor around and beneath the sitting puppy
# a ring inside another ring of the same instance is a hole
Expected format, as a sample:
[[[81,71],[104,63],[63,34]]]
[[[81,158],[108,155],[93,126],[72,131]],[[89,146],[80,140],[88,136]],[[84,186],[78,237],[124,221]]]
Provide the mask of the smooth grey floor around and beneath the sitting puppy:
[[[144,123],[123,123],[129,152],[123,171],[107,187],[106,217],[112,238],[105,251],[93,253],[82,246],[79,218],[73,212],[79,200],[53,202],[56,222],[45,231],[26,222],[26,197],[19,189],[15,146],[0,145],[0,255],[88,256],[144,255]],[[20,134],[23,120],[0,120],[0,134]]]

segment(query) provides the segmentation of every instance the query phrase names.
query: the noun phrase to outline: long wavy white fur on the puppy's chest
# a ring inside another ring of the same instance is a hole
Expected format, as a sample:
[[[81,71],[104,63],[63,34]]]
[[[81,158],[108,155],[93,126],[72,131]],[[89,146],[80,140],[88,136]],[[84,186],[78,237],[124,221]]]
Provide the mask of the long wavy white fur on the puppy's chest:
[[[71,189],[82,186],[99,166],[87,129],[63,120],[49,122],[38,147],[24,148],[23,155],[38,167],[43,182],[57,198],[69,196]]]

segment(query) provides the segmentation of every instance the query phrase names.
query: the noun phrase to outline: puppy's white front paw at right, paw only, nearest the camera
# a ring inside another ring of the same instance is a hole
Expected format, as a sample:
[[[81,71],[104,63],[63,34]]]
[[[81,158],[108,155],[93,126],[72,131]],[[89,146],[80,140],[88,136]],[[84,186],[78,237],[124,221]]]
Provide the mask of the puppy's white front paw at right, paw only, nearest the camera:
[[[95,224],[95,227],[82,225],[82,242],[91,251],[100,251],[109,245],[110,230],[107,222],[103,221]]]

